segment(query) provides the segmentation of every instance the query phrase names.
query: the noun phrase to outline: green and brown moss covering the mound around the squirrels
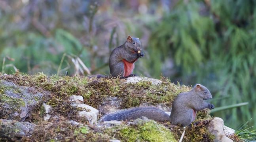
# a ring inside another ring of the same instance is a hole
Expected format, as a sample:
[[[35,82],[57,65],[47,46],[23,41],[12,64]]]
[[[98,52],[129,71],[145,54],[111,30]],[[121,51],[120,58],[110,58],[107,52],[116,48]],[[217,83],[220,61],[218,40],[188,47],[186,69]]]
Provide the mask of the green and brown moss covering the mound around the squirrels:
[[[121,99],[121,108],[139,106],[142,103],[160,104],[171,106],[178,93],[188,92],[191,86],[174,84],[167,78],[162,77],[161,84],[153,85],[150,81],[124,84],[120,78],[88,78],[75,75],[61,76],[52,75],[48,77],[44,73],[36,75],[26,75],[17,71],[14,75],[2,75],[0,80],[9,80],[20,86],[30,86],[42,88],[52,92],[51,97],[47,97],[43,102],[39,102],[38,108],[34,110],[29,118],[36,127],[32,136],[23,137],[23,141],[108,141],[119,139],[122,141],[175,141],[179,140],[184,127],[155,121],[140,120],[137,123],[112,126],[95,127],[87,125],[88,122],[76,117],[81,109],[71,107],[68,102],[71,95],[82,95],[84,103],[94,108],[98,108],[106,97],[112,96]],[[5,97],[5,87],[0,87],[1,100]],[[8,99],[7,99],[8,100]],[[48,122],[40,116],[42,103],[47,103],[53,108],[52,116]],[[211,142],[214,136],[210,135],[205,126],[211,119],[210,110],[205,109],[198,112],[194,125],[186,127],[184,141]],[[57,121],[56,121],[57,120]],[[75,120],[81,125],[71,125],[64,123],[68,120]]]

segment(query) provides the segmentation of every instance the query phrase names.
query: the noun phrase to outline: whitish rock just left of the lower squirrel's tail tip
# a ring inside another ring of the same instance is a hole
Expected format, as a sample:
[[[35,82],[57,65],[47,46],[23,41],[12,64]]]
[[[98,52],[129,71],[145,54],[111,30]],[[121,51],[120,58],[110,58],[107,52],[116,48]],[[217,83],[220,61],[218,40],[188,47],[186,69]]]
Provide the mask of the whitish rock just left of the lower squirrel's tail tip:
[[[72,103],[71,106],[85,108],[86,111],[82,110],[82,111],[78,112],[78,117],[87,119],[91,125],[93,125],[94,123],[97,123],[99,110],[97,110],[89,105],[79,104],[79,103]]]

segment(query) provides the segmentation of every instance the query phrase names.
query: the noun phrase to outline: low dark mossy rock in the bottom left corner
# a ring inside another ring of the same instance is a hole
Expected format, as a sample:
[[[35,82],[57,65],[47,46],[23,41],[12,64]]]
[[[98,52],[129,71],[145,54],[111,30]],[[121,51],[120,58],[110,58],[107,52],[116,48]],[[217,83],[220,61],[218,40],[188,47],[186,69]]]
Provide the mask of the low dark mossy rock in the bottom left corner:
[[[23,136],[31,135],[33,129],[32,123],[29,122],[0,119],[0,140],[16,141]]]

